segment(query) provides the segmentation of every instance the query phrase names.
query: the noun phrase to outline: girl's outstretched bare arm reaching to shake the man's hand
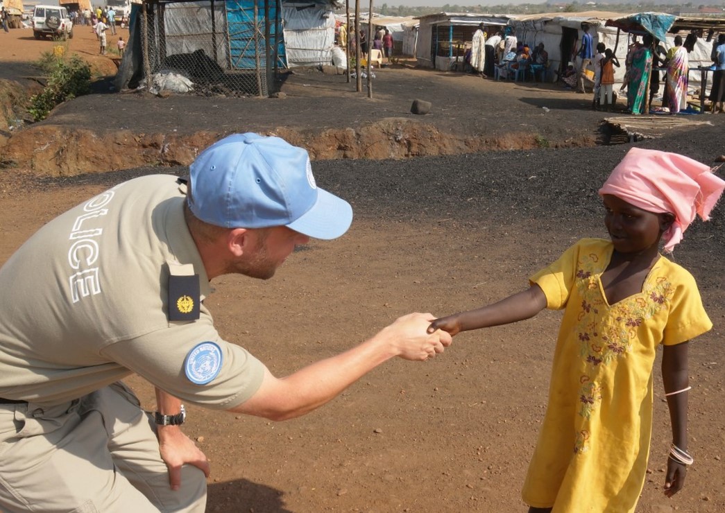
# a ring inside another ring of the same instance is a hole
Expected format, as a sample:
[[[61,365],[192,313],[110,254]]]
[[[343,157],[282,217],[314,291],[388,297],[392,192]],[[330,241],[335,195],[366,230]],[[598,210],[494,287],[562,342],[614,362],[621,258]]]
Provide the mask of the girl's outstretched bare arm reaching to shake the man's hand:
[[[461,331],[510,324],[534,317],[544,308],[546,296],[539,285],[534,284],[526,291],[515,293],[497,303],[436,319],[428,327],[428,333],[444,330],[455,335]]]

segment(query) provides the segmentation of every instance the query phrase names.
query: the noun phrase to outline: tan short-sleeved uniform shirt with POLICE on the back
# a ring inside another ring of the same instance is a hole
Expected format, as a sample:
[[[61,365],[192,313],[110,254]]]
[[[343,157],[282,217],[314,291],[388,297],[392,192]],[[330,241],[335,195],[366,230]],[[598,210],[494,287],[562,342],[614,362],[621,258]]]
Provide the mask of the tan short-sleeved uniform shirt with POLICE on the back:
[[[192,264],[201,299],[210,293],[183,201],[173,176],[136,178],[60,215],[10,257],[0,268],[0,397],[60,404],[132,372],[216,409],[257,391],[264,366],[220,338],[203,303],[199,320],[168,320],[169,262]],[[220,370],[199,385],[185,368],[203,342],[217,344]]]

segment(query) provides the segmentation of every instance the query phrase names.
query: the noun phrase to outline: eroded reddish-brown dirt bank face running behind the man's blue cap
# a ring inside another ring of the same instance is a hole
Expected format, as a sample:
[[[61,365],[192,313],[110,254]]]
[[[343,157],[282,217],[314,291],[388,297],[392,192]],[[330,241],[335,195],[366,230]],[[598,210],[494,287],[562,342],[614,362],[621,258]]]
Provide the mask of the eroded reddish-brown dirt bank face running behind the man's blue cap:
[[[277,128],[278,135],[320,159],[404,159],[408,157],[474,153],[484,150],[531,149],[542,146],[532,133],[492,137],[443,133],[434,125],[389,118],[359,128],[327,130]],[[202,130],[191,134],[98,132],[93,128],[38,125],[7,139],[5,166],[30,168],[41,175],[72,176],[99,170],[149,165],[188,165],[199,151],[228,132]],[[546,142],[547,146],[593,146],[595,141]],[[91,149],[89,151],[89,149]],[[94,151],[93,149],[100,149]]]

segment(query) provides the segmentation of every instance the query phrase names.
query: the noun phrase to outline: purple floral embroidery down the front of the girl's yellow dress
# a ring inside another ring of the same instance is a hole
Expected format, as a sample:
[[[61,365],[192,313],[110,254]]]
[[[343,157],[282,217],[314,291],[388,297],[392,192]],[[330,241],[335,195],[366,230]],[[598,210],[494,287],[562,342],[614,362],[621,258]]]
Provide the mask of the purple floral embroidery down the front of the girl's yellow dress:
[[[642,293],[610,306],[600,290],[600,275],[604,272],[600,267],[597,259],[587,255],[582,257],[576,272],[576,287],[582,300],[575,333],[587,372],[579,380],[579,415],[584,420],[584,428],[589,426],[592,414],[602,401],[602,388],[608,389],[607,383],[600,382],[605,375],[603,367],[631,352],[639,328],[658,312],[668,309],[674,294],[666,278],[650,280],[647,277]],[[587,429],[577,434],[576,454],[587,452],[588,438]]]

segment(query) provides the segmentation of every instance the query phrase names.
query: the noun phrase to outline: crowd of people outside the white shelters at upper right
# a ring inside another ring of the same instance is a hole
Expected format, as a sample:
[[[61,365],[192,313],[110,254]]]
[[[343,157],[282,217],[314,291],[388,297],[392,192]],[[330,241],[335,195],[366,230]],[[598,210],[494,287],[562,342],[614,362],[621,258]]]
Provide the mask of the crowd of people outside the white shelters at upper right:
[[[615,69],[621,67],[621,62],[605,43],[594,45],[587,23],[582,23],[581,28],[581,39],[573,46],[572,60],[558,73],[558,80],[565,88],[581,94],[587,93],[587,86],[592,83],[592,109],[610,111],[617,103],[613,87]],[[682,36],[676,36],[674,46],[666,50],[650,34],[641,39],[632,37],[624,62],[624,80],[617,91],[626,98],[626,112],[645,114],[653,109],[676,114],[689,109],[688,54],[693,51],[696,41],[695,33],[690,33],[684,40]],[[725,33],[719,34],[713,44],[711,59],[710,112],[725,112]],[[514,78],[519,70],[524,70],[524,78],[544,80],[549,68],[544,43],[536,46],[522,43],[512,27],[489,37],[483,23],[473,34],[464,60],[470,72],[494,79]],[[661,86],[663,91],[660,93]],[[661,107],[652,107],[652,100],[660,97]]]

